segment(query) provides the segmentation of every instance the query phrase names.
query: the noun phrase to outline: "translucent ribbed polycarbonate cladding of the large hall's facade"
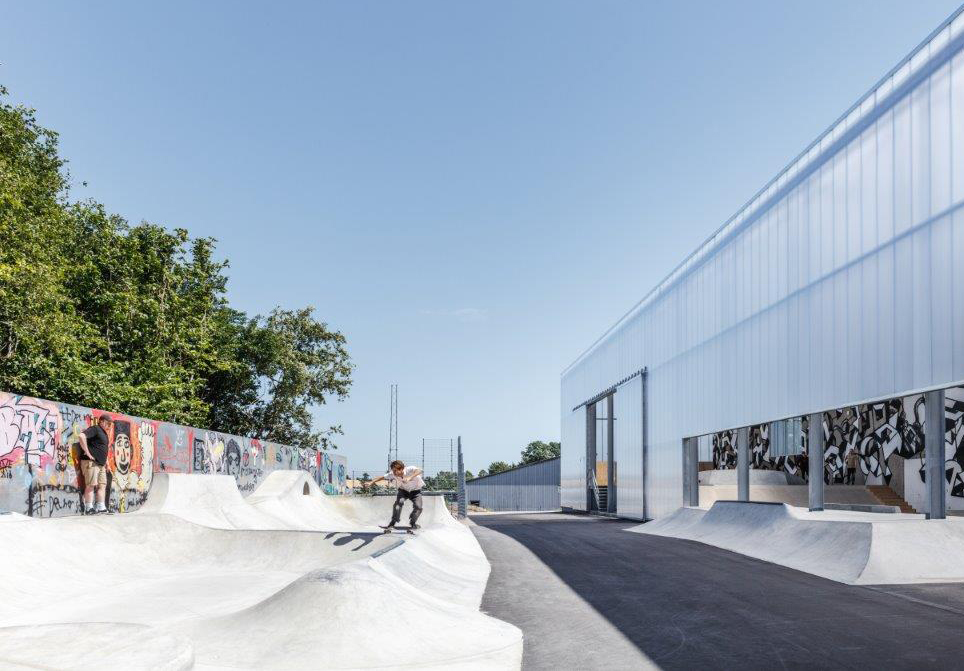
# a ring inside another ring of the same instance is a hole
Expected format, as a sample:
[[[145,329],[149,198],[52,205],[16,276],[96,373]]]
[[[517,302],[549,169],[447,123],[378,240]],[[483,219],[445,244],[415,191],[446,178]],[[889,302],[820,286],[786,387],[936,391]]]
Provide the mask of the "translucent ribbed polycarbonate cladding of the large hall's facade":
[[[650,517],[682,502],[686,436],[964,380],[962,44],[959,13],[564,372],[563,505],[572,408],[643,367]]]

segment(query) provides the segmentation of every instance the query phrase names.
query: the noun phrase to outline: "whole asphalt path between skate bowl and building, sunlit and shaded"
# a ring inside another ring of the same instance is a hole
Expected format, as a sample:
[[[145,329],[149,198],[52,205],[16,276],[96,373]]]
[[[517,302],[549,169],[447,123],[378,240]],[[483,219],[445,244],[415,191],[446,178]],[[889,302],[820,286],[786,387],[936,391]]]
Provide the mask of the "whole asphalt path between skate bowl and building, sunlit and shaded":
[[[524,668],[964,668],[964,586],[852,587],[632,522],[477,515]]]

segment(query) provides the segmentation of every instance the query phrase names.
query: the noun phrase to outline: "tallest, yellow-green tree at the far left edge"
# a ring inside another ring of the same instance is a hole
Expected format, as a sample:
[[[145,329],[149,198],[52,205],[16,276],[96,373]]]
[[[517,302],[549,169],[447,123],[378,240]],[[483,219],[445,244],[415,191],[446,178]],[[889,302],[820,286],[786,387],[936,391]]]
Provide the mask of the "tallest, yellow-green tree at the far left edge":
[[[93,373],[89,329],[64,291],[76,242],[66,195],[57,134],[33,110],[0,105],[0,385],[53,398]]]

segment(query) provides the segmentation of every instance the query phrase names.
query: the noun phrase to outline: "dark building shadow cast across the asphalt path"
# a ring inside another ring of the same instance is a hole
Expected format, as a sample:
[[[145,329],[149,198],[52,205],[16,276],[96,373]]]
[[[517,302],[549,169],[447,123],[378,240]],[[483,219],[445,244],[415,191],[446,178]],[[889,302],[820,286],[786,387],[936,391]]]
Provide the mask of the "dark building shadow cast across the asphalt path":
[[[634,534],[625,531],[636,526],[631,521],[562,513],[473,521],[524,546],[664,668],[962,664],[964,616],[946,605]],[[959,586],[952,590],[960,594]],[[566,617],[558,613],[558,627],[567,626]]]

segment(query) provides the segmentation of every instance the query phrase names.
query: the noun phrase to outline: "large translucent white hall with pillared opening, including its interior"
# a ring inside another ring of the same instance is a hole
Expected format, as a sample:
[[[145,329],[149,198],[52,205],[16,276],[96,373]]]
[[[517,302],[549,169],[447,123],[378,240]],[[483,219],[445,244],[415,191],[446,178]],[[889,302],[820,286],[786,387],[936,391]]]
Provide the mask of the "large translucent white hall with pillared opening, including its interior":
[[[962,45],[958,10],[563,371],[564,509],[658,518],[704,470],[964,509]]]

